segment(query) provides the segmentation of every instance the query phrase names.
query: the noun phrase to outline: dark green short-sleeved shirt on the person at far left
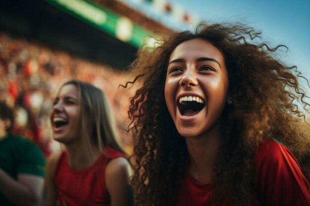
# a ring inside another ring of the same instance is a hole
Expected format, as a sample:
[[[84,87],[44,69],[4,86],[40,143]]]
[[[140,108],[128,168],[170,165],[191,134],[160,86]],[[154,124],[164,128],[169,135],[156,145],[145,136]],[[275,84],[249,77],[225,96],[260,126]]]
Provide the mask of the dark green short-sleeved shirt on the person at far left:
[[[0,168],[12,178],[17,174],[45,176],[45,158],[40,148],[25,137],[9,134],[0,140]],[[0,206],[10,206],[0,194]]]

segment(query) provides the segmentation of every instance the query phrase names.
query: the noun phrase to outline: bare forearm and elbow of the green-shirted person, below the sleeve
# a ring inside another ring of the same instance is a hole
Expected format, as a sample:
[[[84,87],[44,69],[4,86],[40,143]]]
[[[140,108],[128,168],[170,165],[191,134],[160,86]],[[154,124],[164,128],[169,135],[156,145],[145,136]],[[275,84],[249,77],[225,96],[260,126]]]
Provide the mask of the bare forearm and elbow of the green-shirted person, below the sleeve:
[[[0,192],[16,206],[39,205],[43,187],[44,178],[41,176],[18,174],[15,180],[0,168]]]

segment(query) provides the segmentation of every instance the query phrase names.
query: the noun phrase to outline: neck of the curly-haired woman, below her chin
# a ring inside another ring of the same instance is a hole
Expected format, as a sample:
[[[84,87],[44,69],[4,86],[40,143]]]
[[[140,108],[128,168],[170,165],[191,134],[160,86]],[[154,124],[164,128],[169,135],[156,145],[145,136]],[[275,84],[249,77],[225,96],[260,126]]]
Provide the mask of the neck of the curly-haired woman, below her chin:
[[[214,177],[213,165],[220,147],[220,136],[219,125],[214,125],[203,135],[185,140],[190,157],[189,171],[198,183],[211,182]]]

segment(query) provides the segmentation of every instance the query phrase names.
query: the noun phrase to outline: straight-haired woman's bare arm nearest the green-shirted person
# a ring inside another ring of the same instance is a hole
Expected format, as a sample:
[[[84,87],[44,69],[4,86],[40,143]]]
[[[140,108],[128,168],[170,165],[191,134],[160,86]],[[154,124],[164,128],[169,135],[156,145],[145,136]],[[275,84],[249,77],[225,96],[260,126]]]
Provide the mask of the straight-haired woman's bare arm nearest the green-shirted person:
[[[57,187],[54,174],[60,153],[52,154],[46,167],[46,206],[55,206],[57,201]]]

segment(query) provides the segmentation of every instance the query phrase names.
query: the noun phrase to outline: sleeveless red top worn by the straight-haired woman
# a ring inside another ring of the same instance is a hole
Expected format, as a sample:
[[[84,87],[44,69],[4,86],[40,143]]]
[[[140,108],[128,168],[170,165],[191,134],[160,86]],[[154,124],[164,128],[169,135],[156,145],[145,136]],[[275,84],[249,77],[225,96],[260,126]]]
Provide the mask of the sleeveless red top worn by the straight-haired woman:
[[[107,163],[123,154],[106,148],[106,156],[83,170],[70,169],[67,153],[63,152],[57,163],[55,183],[58,190],[57,206],[110,206],[110,195],[105,185]]]

